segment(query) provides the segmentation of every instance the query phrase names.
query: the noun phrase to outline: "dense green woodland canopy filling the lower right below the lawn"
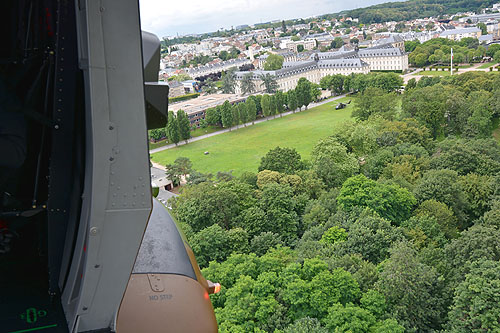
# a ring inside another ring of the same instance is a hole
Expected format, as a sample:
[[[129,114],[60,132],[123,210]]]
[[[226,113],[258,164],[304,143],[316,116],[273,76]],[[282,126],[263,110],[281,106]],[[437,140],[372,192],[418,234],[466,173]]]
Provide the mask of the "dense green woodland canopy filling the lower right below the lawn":
[[[367,87],[310,160],[276,147],[237,178],[190,171],[172,212],[222,285],[221,332],[500,329],[500,147],[470,119],[500,116],[498,76],[442,80],[395,112]]]

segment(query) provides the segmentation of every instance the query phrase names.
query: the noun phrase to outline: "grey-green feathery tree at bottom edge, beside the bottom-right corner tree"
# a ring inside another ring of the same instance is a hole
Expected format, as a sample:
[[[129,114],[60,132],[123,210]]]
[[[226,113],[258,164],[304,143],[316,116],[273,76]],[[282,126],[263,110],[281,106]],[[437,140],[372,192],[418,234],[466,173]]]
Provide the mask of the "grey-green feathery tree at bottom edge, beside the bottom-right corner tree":
[[[394,245],[381,269],[376,286],[387,300],[389,313],[409,331],[439,330],[444,307],[436,270],[421,263],[407,242]]]

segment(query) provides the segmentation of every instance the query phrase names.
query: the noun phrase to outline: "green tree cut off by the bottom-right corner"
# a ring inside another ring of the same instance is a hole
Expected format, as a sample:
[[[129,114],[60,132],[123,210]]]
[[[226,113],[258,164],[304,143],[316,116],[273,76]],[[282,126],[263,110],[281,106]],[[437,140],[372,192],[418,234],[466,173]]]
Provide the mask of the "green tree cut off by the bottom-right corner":
[[[500,262],[481,259],[472,264],[455,290],[448,316],[453,332],[500,331]]]

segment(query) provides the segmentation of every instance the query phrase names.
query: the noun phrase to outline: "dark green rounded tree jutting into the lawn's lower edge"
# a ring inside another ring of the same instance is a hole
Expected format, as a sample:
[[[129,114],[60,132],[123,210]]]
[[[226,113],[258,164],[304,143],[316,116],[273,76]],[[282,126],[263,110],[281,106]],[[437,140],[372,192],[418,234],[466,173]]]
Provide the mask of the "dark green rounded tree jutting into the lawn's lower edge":
[[[261,158],[259,171],[272,170],[295,174],[303,168],[300,154],[294,148],[276,147]]]

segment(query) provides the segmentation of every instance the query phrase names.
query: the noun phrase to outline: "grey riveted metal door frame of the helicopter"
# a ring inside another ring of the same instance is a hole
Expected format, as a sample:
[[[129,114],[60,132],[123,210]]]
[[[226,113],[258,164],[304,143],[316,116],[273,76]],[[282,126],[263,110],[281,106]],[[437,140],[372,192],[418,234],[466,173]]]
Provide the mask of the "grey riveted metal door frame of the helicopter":
[[[62,301],[70,327],[83,332],[113,323],[151,211],[151,191],[137,0],[80,0],[77,21],[86,174]]]

